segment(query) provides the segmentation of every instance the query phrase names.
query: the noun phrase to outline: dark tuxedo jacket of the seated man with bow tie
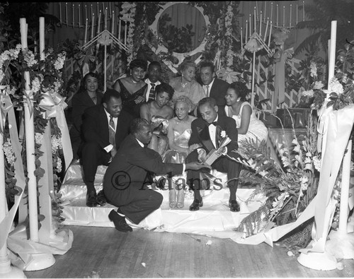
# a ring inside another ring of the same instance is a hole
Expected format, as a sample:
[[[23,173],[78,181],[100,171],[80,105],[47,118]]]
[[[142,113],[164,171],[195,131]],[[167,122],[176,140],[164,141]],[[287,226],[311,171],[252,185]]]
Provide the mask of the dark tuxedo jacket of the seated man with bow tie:
[[[192,146],[195,143],[199,143],[202,145],[207,153],[209,153],[214,147],[212,144],[212,140],[210,138],[209,133],[209,124],[207,121],[197,118],[192,122],[192,133],[190,135],[190,139],[188,142],[188,146]],[[220,126],[222,131],[225,131],[227,136],[231,139],[231,142],[227,145],[227,154],[232,155],[232,150],[239,148],[237,144],[237,129],[236,129],[236,121],[232,117],[227,117],[219,114],[219,118],[217,119],[217,126]]]

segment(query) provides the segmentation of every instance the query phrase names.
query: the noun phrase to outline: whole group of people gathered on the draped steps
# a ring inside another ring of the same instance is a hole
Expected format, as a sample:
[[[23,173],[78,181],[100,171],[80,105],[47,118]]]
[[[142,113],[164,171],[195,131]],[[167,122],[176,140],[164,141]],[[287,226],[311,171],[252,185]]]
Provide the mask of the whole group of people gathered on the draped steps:
[[[118,210],[108,217],[117,230],[131,231],[125,218],[139,224],[162,203],[162,195],[150,187],[156,175],[172,177],[171,208],[183,208],[187,186],[194,194],[189,209],[199,210],[203,205],[200,174],[215,169],[227,173],[229,208],[239,211],[236,189],[241,165],[233,160],[233,151],[241,139],[263,141],[267,136],[263,122],[246,102],[246,85],[217,78],[208,61],[200,63],[197,80],[194,62],[183,61],[181,76],[169,84],[160,81],[157,61],[147,66],[146,61],[135,59],[129,68],[129,75],[104,94],[98,91],[96,73],[87,73],[72,99],[70,134],[84,171],[86,206],[113,204]],[[221,133],[231,142],[219,148]],[[212,150],[217,150],[217,159],[207,165]],[[96,194],[98,165],[108,168],[103,191]]]

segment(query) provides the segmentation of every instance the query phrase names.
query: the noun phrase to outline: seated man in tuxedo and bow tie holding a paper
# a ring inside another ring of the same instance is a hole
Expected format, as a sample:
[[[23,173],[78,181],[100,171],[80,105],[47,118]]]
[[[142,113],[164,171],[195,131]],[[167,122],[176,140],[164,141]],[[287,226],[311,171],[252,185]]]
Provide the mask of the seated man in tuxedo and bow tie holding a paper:
[[[227,185],[230,190],[229,207],[231,211],[239,211],[239,203],[236,201],[236,190],[239,182],[238,179],[233,178],[239,177],[241,165],[226,156],[229,155],[232,158],[237,157],[236,153],[232,152],[232,150],[239,147],[237,144],[238,134],[236,121],[226,115],[217,114],[218,109],[217,102],[211,97],[205,97],[199,101],[198,110],[201,117],[198,117],[192,122],[192,133],[188,145],[198,145],[200,148],[193,150],[185,159],[185,162],[193,162],[196,160],[205,162],[207,154],[210,153],[213,148],[219,148],[219,141],[222,140],[222,132],[226,133],[231,139],[231,142],[216,153],[217,160],[215,160],[211,166],[212,169],[219,172],[227,172],[227,180],[232,179]],[[194,192],[194,201],[189,210],[199,210],[199,208],[202,207],[202,196],[200,196],[202,186],[200,170],[189,170],[187,172],[187,184]]]

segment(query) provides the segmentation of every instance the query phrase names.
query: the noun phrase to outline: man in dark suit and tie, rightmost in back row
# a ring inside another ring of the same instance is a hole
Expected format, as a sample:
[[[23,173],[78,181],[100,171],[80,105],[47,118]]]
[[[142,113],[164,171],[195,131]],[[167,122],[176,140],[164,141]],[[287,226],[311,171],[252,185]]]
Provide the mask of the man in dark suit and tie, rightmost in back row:
[[[224,107],[226,105],[225,95],[229,83],[215,77],[215,67],[210,61],[200,62],[200,85],[205,90],[207,97],[212,97],[217,101],[219,107],[219,114],[224,114]]]

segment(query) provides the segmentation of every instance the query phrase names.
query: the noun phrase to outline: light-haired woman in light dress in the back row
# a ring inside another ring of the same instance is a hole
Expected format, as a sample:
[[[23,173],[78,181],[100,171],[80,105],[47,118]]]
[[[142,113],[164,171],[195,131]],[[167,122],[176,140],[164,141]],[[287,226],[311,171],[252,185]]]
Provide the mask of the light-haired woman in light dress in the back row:
[[[170,81],[170,85],[175,90],[174,98],[176,99],[181,95],[189,97],[193,103],[192,112],[195,112],[195,107],[198,105],[198,102],[203,97],[206,97],[202,85],[194,79],[195,68],[196,65],[193,61],[183,61],[179,66],[181,76],[172,78]]]

